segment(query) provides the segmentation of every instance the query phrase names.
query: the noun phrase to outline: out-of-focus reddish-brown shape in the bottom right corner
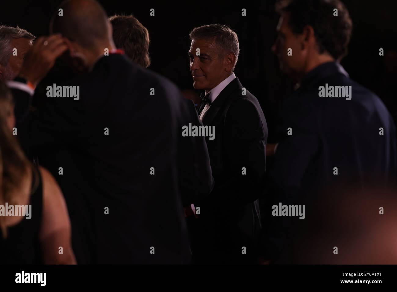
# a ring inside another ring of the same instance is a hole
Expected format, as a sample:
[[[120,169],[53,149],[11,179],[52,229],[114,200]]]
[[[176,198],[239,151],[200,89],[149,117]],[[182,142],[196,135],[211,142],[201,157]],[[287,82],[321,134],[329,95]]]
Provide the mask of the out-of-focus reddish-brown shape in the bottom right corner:
[[[346,186],[319,196],[291,228],[299,264],[397,264],[397,190]]]

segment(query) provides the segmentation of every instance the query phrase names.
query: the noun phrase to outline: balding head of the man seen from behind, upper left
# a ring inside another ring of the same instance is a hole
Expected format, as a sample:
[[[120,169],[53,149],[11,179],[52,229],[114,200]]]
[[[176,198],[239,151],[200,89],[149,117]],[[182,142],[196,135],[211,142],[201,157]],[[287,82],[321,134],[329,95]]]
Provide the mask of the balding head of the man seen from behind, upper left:
[[[94,0],[62,2],[50,23],[50,33],[61,33],[87,49],[108,43],[111,38],[110,30],[105,10]]]

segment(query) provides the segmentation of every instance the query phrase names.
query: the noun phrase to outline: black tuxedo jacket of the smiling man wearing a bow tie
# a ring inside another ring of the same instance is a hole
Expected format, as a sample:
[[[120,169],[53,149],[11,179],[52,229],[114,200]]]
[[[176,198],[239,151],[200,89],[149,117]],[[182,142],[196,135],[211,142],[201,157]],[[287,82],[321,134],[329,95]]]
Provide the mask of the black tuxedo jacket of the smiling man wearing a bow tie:
[[[255,96],[248,90],[243,95],[243,86],[235,78],[220,92],[202,122],[215,126],[214,140],[206,137],[215,186],[197,204],[202,236],[193,247],[203,262],[252,261],[260,230],[257,199],[266,170],[266,119]],[[242,254],[243,246],[247,254]]]

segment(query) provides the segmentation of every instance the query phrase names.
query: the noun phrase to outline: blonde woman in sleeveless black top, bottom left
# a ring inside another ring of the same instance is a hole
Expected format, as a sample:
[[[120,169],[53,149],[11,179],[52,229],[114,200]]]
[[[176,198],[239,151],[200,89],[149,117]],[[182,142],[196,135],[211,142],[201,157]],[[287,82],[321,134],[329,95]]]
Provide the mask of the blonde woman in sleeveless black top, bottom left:
[[[14,124],[12,95],[0,81],[0,264],[76,263],[62,192],[25,158]]]

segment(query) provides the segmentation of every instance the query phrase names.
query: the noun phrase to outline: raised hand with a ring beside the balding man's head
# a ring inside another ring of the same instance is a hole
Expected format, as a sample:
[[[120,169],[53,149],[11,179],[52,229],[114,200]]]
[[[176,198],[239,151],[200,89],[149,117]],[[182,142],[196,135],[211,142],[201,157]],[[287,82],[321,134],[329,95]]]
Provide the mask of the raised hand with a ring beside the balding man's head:
[[[66,42],[60,34],[39,37],[27,53],[19,76],[36,86],[66,50]]]

